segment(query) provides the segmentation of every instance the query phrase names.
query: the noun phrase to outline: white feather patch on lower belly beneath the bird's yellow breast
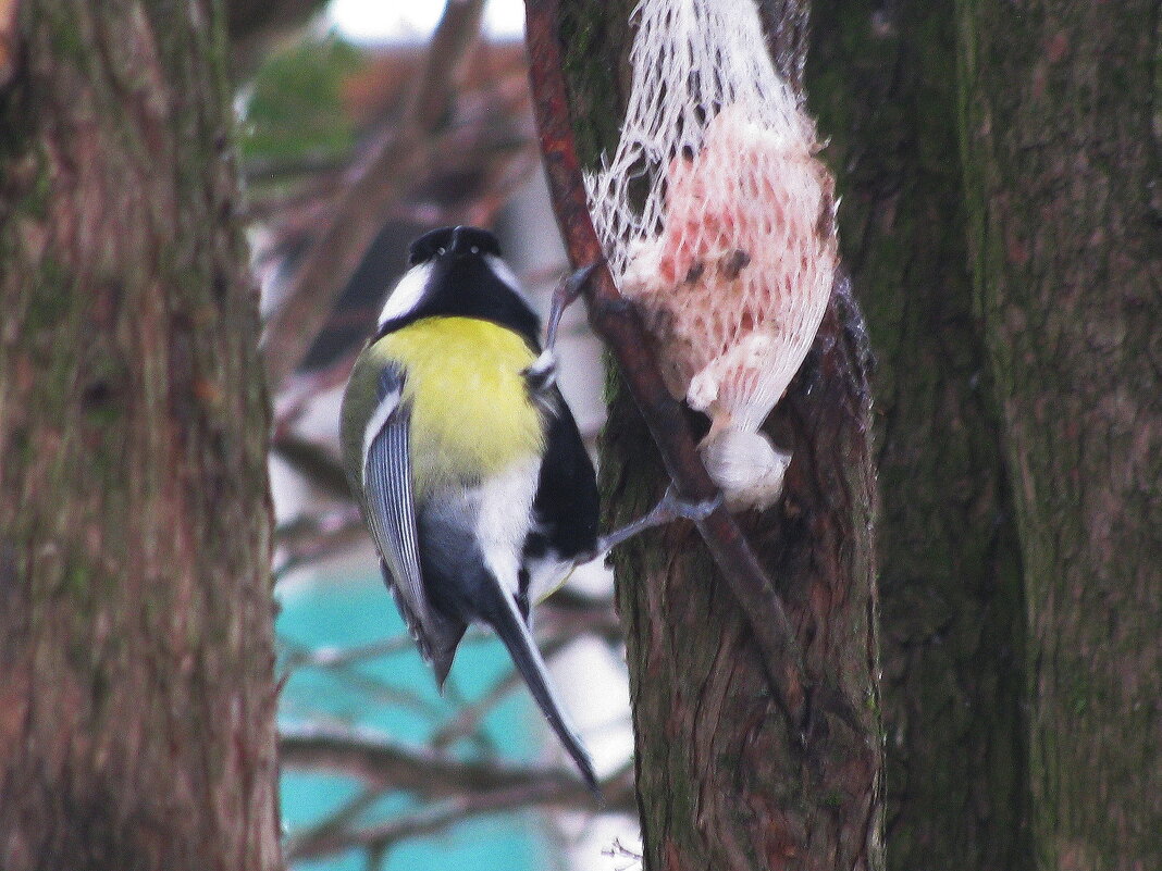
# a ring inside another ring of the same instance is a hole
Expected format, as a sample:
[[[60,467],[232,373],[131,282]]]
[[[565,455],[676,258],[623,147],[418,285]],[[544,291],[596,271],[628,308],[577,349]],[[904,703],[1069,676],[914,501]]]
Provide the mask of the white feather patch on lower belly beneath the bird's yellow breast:
[[[476,540],[485,563],[511,596],[519,590],[521,553],[529,534],[540,458],[519,460],[479,490]]]

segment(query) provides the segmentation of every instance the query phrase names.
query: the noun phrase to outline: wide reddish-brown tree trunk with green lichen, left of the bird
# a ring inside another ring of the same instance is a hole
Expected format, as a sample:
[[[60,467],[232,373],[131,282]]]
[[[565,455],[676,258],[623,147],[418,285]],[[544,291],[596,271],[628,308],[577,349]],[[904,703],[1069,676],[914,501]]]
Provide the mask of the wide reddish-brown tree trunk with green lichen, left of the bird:
[[[0,86],[0,866],[266,871],[267,411],[222,3],[24,0]]]

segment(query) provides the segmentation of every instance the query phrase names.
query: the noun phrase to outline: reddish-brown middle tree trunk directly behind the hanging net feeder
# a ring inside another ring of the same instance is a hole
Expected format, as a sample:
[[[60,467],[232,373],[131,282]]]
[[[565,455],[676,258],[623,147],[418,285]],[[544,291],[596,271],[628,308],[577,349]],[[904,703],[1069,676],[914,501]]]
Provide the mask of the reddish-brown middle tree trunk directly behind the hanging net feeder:
[[[783,36],[801,43],[802,6],[784,6]],[[616,143],[625,105],[629,85],[617,73],[630,5],[562,7],[574,127],[593,165]],[[801,60],[782,59],[792,73]],[[805,733],[773,701],[697,533],[674,525],[618,552],[648,869],[882,864],[866,367],[860,316],[837,282],[815,350],[767,425],[795,453],[784,496],[743,517],[815,683]],[[631,401],[612,391],[602,475],[608,504],[625,519],[666,480]]]

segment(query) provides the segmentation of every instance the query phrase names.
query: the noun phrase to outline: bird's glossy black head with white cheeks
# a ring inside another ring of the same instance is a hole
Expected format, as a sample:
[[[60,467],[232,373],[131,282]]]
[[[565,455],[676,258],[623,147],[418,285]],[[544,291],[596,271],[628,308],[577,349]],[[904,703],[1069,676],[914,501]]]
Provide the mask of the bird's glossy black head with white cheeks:
[[[408,250],[407,274],[383,305],[378,336],[425,317],[474,317],[515,330],[539,351],[540,321],[487,230],[442,226]]]

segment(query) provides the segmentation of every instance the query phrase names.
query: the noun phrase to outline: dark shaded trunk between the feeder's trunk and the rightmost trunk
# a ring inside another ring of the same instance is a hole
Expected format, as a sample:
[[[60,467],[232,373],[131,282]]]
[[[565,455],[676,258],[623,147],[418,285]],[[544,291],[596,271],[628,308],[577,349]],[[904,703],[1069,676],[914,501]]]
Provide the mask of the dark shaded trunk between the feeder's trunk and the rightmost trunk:
[[[1024,871],[1020,555],[968,272],[954,10],[817,0],[812,21],[877,363],[888,866]]]

